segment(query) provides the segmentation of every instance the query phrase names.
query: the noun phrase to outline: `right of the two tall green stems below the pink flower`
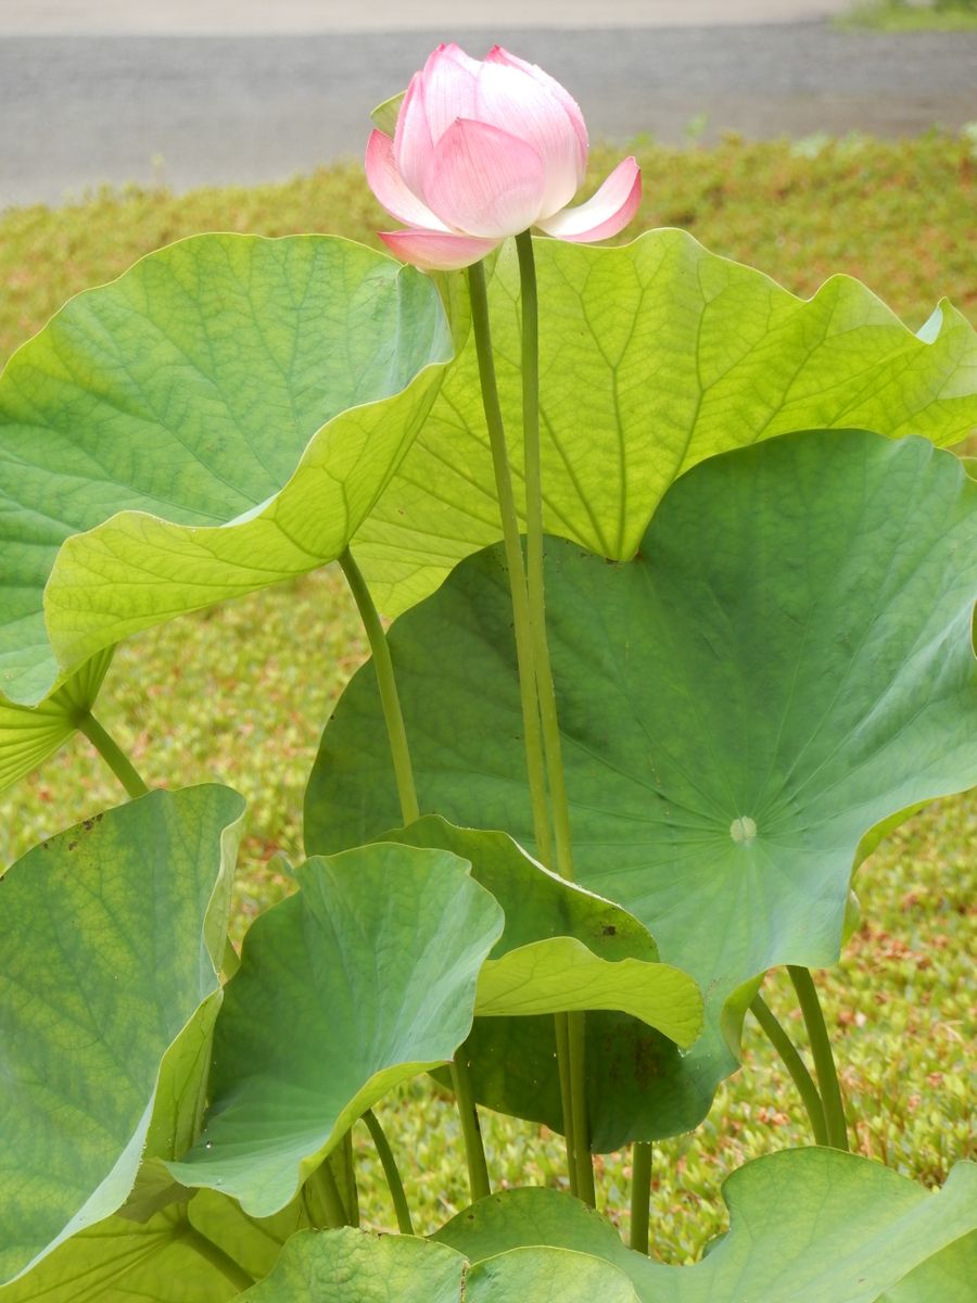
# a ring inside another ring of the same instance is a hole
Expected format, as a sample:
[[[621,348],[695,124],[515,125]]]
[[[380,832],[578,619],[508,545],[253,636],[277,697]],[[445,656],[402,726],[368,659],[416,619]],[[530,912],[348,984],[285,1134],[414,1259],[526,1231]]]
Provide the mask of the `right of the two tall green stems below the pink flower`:
[[[535,258],[533,257],[533,237],[528,231],[516,236],[518,254],[520,294],[522,305],[522,448],[526,480],[526,595],[529,601],[529,628],[533,645],[537,693],[539,697],[539,718],[542,721],[543,753],[546,757],[546,780],[550,790],[552,812],[554,843],[556,850],[556,872],[573,882],[573,843],[571,838],[569,801],[567,800],[567,780],[563,769],[563,744],[560,740],[560,721],[556,713],[556,692],[550,663],[550,644],[546,636],[546,586],[543,579],[543,473],[539,444],[539,294],[535,279]],[[574,1014],[580,1023],[578,1040],[581,1050],[569,1054],[565,1063],[560,1062],[561,1074],[567,1074],[564,1089],[560,1083],[569,1114],[574,1119],[567,1135],[567,1152],[571,1153],[571,1169],[577,1171],[578,1191],[582,1197],[594,1188],[594,1175],[588,1145],[586,1126],[581,1128],[580,1119],[586,1119],[586,1078],[584,1075],[584,1014]],[[558,1041],[559,1049],[559,1041]],[[564,1119],[567,1110],[564,1108]],[[589,1171],[584,1173],[584,1166]],[[590,1200],[593,1203],[593,1199]]]

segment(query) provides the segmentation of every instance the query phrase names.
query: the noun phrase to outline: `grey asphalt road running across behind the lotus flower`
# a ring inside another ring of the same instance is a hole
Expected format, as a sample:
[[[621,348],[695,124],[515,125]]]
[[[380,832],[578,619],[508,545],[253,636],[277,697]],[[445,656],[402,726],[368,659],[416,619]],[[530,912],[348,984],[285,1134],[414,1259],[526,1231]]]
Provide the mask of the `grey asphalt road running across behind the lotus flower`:
[[[0,208],[100,182],[277,180],[360,156],[370,108],[451,36],[478,55],[499,40],[542,64],[594,138],[680,142],[698,115],[706,141],[727,129],[891,137],[977,119],[977,35],[843,34],[823,22],[0,35]]]

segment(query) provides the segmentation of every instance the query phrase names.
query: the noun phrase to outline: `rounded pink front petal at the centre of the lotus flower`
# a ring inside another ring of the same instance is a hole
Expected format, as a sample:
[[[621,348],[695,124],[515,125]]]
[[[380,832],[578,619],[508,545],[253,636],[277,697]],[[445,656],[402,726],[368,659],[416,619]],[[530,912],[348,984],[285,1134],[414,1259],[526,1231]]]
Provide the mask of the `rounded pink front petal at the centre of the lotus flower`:
[[[531,145],[461,119],[435,146],[423,197],[453,231],[502,240],[533,225],[545,188],[546,168]]]

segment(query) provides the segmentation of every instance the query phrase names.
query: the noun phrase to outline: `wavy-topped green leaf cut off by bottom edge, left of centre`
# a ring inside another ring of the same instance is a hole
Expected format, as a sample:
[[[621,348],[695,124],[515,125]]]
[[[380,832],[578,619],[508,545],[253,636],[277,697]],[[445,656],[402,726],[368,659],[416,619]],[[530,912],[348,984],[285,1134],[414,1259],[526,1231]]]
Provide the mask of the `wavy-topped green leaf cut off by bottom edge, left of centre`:
[[[337,1230],[294,1235],[241,1303],[638,1303],[614,1264],[565,1248],[515,1248],[469,1264],[444,1244]]]

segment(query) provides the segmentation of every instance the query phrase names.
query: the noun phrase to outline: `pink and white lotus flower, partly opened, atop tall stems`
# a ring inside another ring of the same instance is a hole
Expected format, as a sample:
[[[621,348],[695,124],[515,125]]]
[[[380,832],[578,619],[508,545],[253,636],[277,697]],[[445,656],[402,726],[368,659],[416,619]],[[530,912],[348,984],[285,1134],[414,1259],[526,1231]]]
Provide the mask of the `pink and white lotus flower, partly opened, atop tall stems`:
[[[410,78],[393,139],[370,137],[366,179],[409,228],[380,232],[389,249],[448,271],[533,225],[582,244],[621,231],[641,201],[637,163],[624,159],[568,208],[586,162],[584,117],[559,82],[499,46],[479,63],[451,44]]]

